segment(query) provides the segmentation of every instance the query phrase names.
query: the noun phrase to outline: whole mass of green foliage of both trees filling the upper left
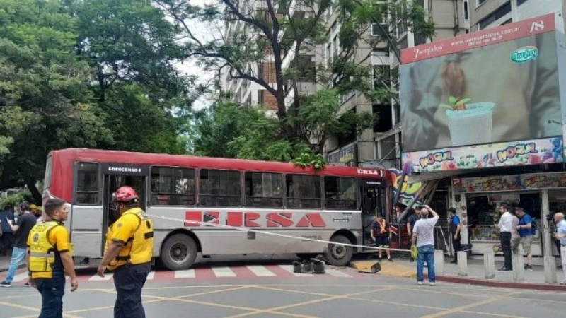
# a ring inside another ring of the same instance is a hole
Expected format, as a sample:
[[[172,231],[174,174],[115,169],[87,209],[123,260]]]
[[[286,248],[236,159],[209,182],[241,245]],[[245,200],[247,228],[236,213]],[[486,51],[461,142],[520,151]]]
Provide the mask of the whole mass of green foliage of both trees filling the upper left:
[[[204,88],[175,69],[176,34],[150,0],[1,0],[0,189],[40,199],[59,148],[186,153]]]

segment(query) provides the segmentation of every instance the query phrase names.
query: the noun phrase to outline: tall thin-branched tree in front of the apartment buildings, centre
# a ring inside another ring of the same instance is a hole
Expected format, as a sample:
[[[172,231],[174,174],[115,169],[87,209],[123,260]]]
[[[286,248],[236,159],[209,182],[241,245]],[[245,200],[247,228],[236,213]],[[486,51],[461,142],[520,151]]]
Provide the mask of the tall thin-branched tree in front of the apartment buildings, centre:
[[[395,96],[388,85],[379,90],[371,85],[374,72],[367,63],[371,52],[380,43],[395,44],[387,32],[379,37],[366,36],[374,21],[393,15],[407,21],[416,33],[427,36],[434,33],[434,24],[427,22],[422,7],[412,1],[221,0],[219,5],[203,7],[190,4],[189,0],[155,2],[183,32],[188,57],[200,59],[209,69],[226,69],[231,78],[261,86],[275,98],[278,125],[284,139],[290,143],[305,143],[317,153],[322,152],[333,129],[345,128],[335,127],[338,95],[357,90],[374,102],[389,102]],[[305,68],[301,54],[315,52],[318,45],[328,42],[331,26],[326,23],[325,13],[331,6],[335,6],[341,25],[341,50],[328,64]],[[192,28],[193,20],[208,23],[209,30],[214,30],[215,34],[207,34],[207,37],[213,38],[200,37]],[[226,34],[226,21],[241,23],[243,28],[234,28]],[[361,45],[368,48],[364,50],[365,55],[361,55]],[[294,57],[289,66],[284,67],[287,54]],[[272,79],[266,78],[260,71],[262,68],[257,67],[262,64],[270,65]],[[305,77],[313,78],[319,86],[330,85],[331,90],[305,97],[299,94],[299,83]],[[383,83],[390,81],[390,78],[381,78]],[[286,101],[289,96],[293,96],[290,102]],[[357,121],[352,125],[355,127],[368,128],[372,124],[370,114],[357,114],[350,117],[352,119]]]

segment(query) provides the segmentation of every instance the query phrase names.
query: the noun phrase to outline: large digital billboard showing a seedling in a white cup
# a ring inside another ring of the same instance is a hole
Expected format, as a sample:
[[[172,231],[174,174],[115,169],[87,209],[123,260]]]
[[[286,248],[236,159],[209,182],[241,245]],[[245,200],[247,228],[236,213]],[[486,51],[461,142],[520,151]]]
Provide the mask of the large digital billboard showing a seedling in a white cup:
[[[562,136],[558,36],[550,14],[404,49],[403,151],[536,140],[553,146]]]

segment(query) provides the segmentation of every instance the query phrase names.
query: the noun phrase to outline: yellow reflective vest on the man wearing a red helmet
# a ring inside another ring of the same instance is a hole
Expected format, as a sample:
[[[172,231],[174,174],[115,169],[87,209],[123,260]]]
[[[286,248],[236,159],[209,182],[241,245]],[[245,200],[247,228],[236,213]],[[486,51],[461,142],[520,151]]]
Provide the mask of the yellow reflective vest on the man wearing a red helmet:
[[[112,271],[125,264],[144,264],[149,263],[154,254],[154,223],[148,218],[144,210],[141,208],[130,208],[122,214],[122,217],[127,214],[134,214],[138,217],[139,223],[134,235],[129,237],[126,245],[120,249],[117,257],[110,261],[107,268]],[[110,246],[112,241],[112,232],[115,226],[120,223],[117,220],[110,228],[106,236],[106,249]]]

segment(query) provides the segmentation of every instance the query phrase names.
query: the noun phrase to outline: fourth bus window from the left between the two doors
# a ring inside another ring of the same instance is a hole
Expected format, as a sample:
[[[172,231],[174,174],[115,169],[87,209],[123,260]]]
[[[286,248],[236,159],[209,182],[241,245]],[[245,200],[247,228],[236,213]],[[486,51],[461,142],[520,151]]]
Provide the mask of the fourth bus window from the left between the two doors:
[[[320,177],[287,175],[288,208],[320,208],[321,201]]]

